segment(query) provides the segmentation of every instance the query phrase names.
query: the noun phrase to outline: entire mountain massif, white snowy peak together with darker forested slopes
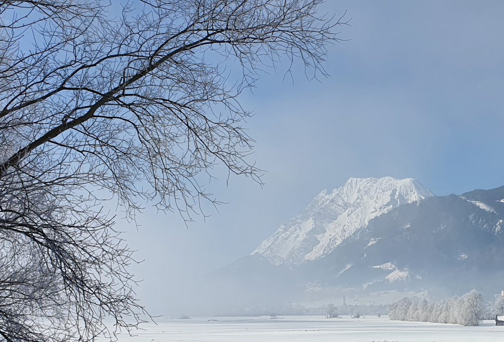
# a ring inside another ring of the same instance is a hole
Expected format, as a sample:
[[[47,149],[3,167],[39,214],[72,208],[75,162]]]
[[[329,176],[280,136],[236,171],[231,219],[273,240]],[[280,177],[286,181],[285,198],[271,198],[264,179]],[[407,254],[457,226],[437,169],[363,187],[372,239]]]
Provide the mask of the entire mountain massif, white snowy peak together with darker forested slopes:
[[[350,179],[216,274],[289,300],[348,288],[491,296],[503,260],[504,187],[437,197],[412,179]]]

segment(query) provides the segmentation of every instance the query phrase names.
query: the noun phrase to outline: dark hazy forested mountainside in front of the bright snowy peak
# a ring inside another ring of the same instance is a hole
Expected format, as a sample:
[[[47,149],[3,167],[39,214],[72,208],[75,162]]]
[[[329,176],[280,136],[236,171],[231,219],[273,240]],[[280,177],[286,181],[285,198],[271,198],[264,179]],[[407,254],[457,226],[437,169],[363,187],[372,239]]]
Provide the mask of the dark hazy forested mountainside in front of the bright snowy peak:
[[[312,265],[318,273],[312,276],[326,286],[368,291],[416,288],[457,295],[477,288],[497,293],[504,279],[503,217],[491,206],[497,202],[473,201],[432,197],[376,217]]]

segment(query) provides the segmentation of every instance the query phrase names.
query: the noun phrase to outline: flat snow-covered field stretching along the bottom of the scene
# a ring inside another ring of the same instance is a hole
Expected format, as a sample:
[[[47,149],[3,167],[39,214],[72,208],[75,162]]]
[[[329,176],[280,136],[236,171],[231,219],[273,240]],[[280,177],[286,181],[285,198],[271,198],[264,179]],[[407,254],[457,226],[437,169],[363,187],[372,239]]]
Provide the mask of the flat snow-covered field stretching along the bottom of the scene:
[[[483,321],[481,326],[321,316],[211,317],[164,320],[145,324],[136,336],[120,335],[119,342],[489,342],[504,341],[504,326]]]

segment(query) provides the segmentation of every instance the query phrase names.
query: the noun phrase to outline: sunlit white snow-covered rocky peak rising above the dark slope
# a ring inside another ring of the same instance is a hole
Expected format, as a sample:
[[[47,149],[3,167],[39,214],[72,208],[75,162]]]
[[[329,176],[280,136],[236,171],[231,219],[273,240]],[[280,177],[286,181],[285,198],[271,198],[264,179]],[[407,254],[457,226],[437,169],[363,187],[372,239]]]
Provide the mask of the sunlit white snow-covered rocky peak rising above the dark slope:
[[[374,217],[430,196],[429,190],[411,178],[351,178],[332,193],[320,193],[252,254],[262,255],[274,265],[316,260]]]

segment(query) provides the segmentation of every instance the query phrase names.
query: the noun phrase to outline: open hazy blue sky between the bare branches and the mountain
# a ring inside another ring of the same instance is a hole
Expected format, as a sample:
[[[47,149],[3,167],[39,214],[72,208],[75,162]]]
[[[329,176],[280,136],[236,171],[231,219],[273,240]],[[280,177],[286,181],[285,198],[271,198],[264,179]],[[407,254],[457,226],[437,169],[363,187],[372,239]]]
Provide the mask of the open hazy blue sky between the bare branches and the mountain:
[[[436,195],[504,185],[504,2],[333,1],[340,42],[330,78],[285,67],[264,75],[242,105],[257,140],[251,160],[266,186],[226,173],[219,207],[188,229],[147,209],[127,237],[145,262],[139,296],[153,314],[181,307],[185,284],[253,251],[324,189],[350,177],[415,178]]]

